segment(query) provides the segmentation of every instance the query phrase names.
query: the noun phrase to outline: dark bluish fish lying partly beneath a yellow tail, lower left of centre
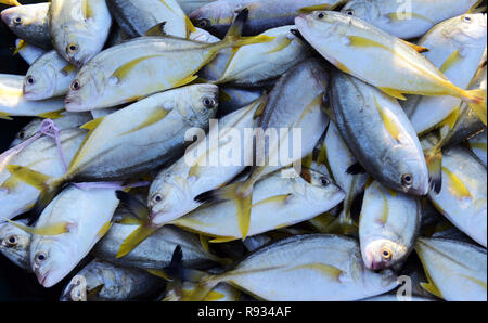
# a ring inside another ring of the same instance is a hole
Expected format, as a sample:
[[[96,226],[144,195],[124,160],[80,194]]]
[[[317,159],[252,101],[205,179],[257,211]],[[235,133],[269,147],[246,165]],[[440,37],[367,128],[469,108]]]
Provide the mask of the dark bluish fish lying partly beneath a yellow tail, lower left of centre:
[[[208,268],[222,261],[206,251],[194,234],[165,225],[139,244],[133,250],[120,257],[119,249],[139,225],[114,223],[108,233],[92,250],[97,258],[121,267],[160,270],[169,266],[175,248],[180,245],[184,253],[183,263],[189,268]]]

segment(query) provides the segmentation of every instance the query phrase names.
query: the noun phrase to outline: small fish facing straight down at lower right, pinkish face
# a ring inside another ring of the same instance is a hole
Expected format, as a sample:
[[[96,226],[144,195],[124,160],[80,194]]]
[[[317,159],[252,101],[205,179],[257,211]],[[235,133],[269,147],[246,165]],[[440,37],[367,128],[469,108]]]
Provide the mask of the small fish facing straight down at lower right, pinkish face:
[[[422,207],[415,196],[374,181],[365,189],[359,219],[361,255],[367,268],[381,270],[403,262],[419,234]]]

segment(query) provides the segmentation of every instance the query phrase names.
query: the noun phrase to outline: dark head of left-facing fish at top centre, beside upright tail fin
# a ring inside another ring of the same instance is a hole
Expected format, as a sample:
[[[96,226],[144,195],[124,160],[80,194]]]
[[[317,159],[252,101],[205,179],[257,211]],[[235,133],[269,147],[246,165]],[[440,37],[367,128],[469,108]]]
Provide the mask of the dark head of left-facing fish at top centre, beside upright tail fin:
[[[195,27],[208,30],[216,36],[223,36],[236,14],[231,3],[219,1],[219,3],[208,3],[193,11],[189,18]]]

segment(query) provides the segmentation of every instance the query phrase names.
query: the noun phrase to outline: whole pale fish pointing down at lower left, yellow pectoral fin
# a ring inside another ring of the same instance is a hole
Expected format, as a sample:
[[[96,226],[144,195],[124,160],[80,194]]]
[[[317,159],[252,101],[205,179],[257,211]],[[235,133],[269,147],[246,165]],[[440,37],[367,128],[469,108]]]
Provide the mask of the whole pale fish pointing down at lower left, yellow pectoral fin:
[[[34,233],[57,225],[63,230],[53,235],[42,235],[42,231],[33,235],[29,257],[39,284],[50,288],[75,269],[111,228],[118,203],[115,189],[85,191],[70,185],[48,205]]]

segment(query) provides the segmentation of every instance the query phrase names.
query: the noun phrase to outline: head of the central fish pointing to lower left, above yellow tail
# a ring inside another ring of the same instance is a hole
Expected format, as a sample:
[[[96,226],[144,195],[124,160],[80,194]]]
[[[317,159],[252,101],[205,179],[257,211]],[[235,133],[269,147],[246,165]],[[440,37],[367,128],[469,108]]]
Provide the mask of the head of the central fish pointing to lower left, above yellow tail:
[[[191,180],[191,178],[190,178]],[[147,206],[154,225],[163,225],[187,214],[185,206],[193,203],[190,181],[172,170],[159,175],[151,185]]]

